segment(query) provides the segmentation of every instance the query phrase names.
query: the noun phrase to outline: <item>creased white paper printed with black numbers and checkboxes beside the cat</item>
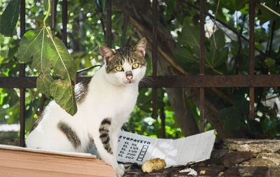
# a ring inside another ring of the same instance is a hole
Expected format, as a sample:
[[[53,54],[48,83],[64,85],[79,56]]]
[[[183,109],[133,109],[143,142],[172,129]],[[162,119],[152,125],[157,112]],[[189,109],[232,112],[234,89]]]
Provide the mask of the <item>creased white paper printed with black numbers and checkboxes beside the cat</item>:
[[[183,139],[155,139],[129,132],[120,132],[119,162],[144,164],[153,158],[164,159],[167,167],[208,160],[215,142],[215,131],[195,134]]]

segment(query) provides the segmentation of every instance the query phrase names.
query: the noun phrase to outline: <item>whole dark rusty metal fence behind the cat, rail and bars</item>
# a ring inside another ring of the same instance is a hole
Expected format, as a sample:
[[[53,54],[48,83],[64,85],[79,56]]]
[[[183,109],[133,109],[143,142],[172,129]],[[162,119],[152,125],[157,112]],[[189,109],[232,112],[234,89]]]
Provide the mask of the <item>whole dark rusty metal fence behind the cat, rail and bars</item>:
[[[55,27],[55,16],[57,0],[52,3],[51,28]],[[188,2],[186,2],[188,3]],[[158,21],[158,0],[153,0],[153,46],[152,46],[152,101],[153,117],[157,117],[157,88],[158,87],[195,87],[200,89],[200,130],[204,130],[204,98],[205,88],[207,87],[248,87],[250,97],[250,118],[254,118],[254,95],[255,87],[279,87],[279,75],[254,75],[255,66],[255,44],[254,44],[254,22],[255,22],[255,1],[249,0],[249,74],[231,76],[206,76],[204,75],[204,20],[206,0],[200,0],[200,73],[193,76],[157,76],[157,21]],[[192,4],[189,4],[192,6]],[[106,44],[111,47],[111,0],[106,6]],[[195,7],[194,7],[195,8]],[[213,16],[212,16],[213,17]],[[66,44],[66,25],[67,25],[67,0],[62,0],[62,41]],[[25,0],[20,3],[20,36],[25,34]],[[237,34],[238,35],[238,34]],[[246,39],[246,38],[245,38]],[[78,76],[77,82],[85,80],[86,77]],[[20,64],[19,77],[1,77],[0,87],[20,88],[20,146],[25,146],[25,90],[36,87],[36,77],[25,77],[25,64]],[[148,86],[146,86],[148,87]]]

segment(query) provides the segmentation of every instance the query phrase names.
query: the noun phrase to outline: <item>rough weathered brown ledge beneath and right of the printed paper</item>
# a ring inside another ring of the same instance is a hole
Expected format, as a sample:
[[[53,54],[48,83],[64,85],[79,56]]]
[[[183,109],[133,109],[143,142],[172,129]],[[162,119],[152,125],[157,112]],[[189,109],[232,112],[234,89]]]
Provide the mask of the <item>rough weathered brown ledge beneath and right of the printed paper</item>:
[[[280,140],[225,139],[215,144],[211,159],[182,167],[174,167],[146,174],[133,166],[125,177],[171,176],[183,177],[179,170],[193,168],[198,176],[280,176]]]

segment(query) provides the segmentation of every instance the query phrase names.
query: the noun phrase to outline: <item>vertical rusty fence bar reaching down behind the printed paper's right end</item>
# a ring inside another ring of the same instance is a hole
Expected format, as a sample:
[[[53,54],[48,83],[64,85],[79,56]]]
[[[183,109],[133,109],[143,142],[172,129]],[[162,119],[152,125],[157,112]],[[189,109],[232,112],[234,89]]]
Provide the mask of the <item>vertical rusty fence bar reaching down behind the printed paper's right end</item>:
[[[204,76],[204,55],[205,55],[205,0],[200,0],[200,75]],[[205,90],[204,87],[200,87],[200,132],[204,132],[204,99]]]

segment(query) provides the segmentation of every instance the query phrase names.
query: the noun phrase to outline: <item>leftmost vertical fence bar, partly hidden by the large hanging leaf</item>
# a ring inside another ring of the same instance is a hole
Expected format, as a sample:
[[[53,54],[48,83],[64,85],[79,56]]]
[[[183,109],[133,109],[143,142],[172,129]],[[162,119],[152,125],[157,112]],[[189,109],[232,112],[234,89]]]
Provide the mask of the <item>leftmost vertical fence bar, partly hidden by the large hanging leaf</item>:
[[[25,0],[20,1],[20,37],[25,34]],[[20,78],[25,77],[25,64],[20,64]],[[20,146],[25,147],[25,88],[20,88]]]

